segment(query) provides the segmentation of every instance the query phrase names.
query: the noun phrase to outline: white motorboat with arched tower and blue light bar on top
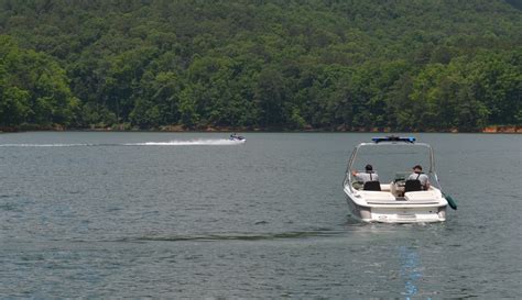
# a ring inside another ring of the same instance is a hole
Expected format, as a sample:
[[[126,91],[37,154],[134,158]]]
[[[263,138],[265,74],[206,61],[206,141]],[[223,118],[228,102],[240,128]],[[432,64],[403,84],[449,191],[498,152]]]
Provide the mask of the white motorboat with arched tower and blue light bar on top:
[[[366,162],[361,162],[361,156]],[[400,156],[405,162],[401,163]],[[426,175],[431,185],[426,190],[420,182],[413,182],[418,180],[407,180],[411,171],[405,171],[420,162],[429,167]],[[381,181],[357,182],[352,170],[367,163],[377,164],[379,171],[376,174]],[[389,181],[383,181],[387,177]],[[348,162],[344,191],[352,214],[363,222],[442,222],[446,220],[448,201],[456,209],[453,199],[442,192],[433,148],[428,144],[415,143],[414,137],[373,137],[372,143],[357,145]]]

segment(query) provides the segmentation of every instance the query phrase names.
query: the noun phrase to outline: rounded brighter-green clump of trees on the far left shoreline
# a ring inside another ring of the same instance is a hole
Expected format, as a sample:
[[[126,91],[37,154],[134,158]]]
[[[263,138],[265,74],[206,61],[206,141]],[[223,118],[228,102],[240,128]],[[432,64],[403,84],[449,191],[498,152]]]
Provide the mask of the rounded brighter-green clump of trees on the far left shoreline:
[[[79,101],[52,57],[0,36],[0,125],[75,123]]]

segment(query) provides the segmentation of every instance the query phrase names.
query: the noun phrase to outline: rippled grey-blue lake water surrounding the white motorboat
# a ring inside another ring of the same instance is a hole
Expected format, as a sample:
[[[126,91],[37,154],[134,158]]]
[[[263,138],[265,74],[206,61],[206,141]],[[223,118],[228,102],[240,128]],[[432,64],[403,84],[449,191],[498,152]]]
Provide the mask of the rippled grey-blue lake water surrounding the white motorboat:
[[[441,224],[361,224],[341,181],[374,134],[0,135],[0,296],[522,298],[522,135],[432,144]]]

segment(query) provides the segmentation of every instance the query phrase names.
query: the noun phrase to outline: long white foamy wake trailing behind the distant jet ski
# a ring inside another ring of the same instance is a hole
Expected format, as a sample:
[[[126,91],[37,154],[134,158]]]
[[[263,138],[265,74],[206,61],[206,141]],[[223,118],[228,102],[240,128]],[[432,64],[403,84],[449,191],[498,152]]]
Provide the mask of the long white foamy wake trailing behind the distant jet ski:
[[[219,140],[189,140],[168,142],[141,142],[141,143],[99,143],[99,144],[0,144],[0,147],[108,147],[108,146],[233,146],[244,144],[244,141]]]

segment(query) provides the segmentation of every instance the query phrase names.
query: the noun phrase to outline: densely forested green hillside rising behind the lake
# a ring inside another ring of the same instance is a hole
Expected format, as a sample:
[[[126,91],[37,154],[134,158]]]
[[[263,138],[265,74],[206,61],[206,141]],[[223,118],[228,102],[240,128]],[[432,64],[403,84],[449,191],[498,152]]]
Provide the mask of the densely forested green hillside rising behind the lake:
[[[0,127],[522,123],[510,0],[0,0]]]

